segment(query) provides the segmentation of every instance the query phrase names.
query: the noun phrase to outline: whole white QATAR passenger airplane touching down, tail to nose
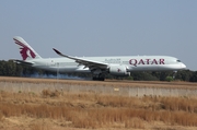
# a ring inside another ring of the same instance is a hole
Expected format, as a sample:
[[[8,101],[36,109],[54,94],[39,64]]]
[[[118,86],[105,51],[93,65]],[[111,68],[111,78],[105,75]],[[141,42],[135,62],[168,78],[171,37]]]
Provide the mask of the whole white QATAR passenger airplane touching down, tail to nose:
[[[104,81],[107,73],[129,75],[132,71],[186,69],[181,60],[169,56],[72,57],[54,48],[62,58],[42,58],[22,37],[15,36],[13,39],[23,58],[16,62],[55,72],[90,72],[93,80]]]

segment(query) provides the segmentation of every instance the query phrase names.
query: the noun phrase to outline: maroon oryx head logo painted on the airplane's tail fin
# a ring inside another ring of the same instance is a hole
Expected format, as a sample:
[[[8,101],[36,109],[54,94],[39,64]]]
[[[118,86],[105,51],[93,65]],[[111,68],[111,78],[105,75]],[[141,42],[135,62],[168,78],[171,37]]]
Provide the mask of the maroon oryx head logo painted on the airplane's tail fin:
[[[34,54],[34,51],[32,49],[30,49],[26,45],[24,45],[23,43],[21,43],[20,40],[14,38],[14,42],[16,45],[21,46],[20,47],[20,54],[23,58],[23,60],[26,60],[27,57],[30,58],[35,58],[36,55]]]

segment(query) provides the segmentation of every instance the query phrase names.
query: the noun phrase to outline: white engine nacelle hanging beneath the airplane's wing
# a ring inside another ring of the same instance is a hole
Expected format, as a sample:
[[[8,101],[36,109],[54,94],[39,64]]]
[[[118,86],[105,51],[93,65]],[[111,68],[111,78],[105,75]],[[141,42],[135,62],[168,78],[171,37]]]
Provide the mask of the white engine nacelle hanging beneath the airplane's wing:
[[[113,75],[130,75],[130,72],[127,72],[127,67],[125,66],[111,66],[108,69]]]

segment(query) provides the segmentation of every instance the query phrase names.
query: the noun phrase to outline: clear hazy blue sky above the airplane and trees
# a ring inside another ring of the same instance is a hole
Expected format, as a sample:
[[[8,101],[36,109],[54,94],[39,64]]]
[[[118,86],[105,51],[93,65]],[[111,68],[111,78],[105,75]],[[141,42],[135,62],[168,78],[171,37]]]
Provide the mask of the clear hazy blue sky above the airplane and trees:
[[[196,0],[3,0],[0,60],[21,59],[13,36],[43,58],[166,55],[197,70]]]

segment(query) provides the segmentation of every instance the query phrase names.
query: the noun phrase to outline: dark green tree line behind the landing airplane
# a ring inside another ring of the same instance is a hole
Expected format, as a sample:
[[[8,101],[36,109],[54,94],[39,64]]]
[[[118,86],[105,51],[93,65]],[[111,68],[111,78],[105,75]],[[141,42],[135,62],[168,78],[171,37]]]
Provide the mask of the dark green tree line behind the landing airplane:
[[[90,79],[91,73],[57,73],[49,72],[28,66],[23,66],[13,62],[12,60],[0,60],[0,75],[2,76],[35,76],[35,78],[81,78]],[[106,75],[106,79],[119,79],[119,80],[135,80],[135,81],[187,81],[197,82],[197,71],[182,70],[177,72],[173,71],[146,71],[146,72],[131,72],[129,76],[114,76]]]

